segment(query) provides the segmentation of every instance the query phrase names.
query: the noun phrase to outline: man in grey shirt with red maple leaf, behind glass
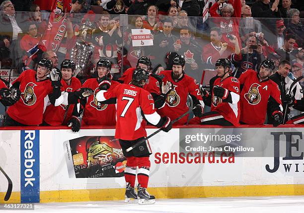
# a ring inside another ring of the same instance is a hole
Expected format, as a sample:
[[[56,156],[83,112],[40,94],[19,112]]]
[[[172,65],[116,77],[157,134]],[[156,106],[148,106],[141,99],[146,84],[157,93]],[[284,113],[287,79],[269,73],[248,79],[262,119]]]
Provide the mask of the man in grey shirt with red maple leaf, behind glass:
[[[174,51],[185,57],[185,70],[188,71],[187,74],[196,80],[201,80],[202,53],[199,51],[198,46],[190,42],[191,31],[189,28],[181,28],[179,30],[179,38],[173,44]]]

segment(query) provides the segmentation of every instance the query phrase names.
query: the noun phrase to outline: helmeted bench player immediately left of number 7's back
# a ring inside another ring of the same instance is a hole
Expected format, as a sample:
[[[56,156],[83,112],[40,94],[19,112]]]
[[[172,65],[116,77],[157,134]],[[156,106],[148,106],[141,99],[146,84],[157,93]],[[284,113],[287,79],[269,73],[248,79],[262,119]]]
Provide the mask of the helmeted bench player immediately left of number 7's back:
[[[94,95],[87,98],[86,103],[82,103],[84,106],[82,116],[82,126],[88,125],[103,125],[113,126],[116,124],[116,107],[113,104],[100,103],[96,99],[98,93],[99,84],[102,81],[111,82],[109,91],[114,89],[120,83],[117,81],[111,81],[111,62],[107,59],[100,59],[96,64],[97,78],[87,79],[82,87],[91,88],[94,91]]]

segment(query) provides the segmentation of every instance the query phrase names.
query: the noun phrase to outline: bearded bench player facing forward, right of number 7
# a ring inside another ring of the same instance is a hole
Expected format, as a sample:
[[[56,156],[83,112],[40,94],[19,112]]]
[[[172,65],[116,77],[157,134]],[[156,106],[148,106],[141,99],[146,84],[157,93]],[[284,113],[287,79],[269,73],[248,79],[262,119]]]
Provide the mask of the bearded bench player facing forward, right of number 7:
[[[172,88],[157,100],[160,105],[157,112],[161,116],[170,117],[171,120],[174,120],[188,110],[188,94],[191,96],[194,106],[196,106],[193,110],[194,115],[200,117],[203,114],[204,103],[199,90],[199,84],[195,79],[185,74],[184,67],[184,56],[176,55],[173,58],[172,71],[164,70],[160,72],[160,75],[164,76],[162,82],[170,82]],[[174,125],[184,125],[187,120],[188,116],[185,116],[175,122]],[[199,124],[199,119],[193,119],[189,124]]]

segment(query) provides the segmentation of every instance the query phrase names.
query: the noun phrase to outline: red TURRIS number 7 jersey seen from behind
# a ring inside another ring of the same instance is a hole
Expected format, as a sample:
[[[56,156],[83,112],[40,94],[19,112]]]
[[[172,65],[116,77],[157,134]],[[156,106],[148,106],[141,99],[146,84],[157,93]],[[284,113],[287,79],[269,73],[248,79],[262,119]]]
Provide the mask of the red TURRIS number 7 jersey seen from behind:
[[[120,84],[113,90],[100,91],[97,100],[117,97],[117,123],[115,138],[136,140],[147,136],[146,119],[153,125],[159,122],[160,116],[155,112],[152,95],[143,88],[132,84]]]

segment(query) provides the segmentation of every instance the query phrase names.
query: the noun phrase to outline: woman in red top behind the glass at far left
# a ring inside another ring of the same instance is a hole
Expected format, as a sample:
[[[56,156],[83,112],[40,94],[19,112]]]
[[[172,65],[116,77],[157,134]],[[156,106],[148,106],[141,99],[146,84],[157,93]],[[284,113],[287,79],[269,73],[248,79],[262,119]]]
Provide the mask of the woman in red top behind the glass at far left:
[[[29,49],[33,48],[35,45],[39,44],[41,37],[38,36],[37,25],[34,21],[27,23],[27,29],[25,32],[27,34],[21,38],[20,48],[26,52]]]

